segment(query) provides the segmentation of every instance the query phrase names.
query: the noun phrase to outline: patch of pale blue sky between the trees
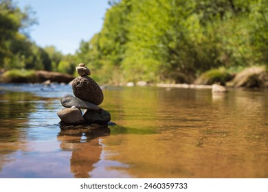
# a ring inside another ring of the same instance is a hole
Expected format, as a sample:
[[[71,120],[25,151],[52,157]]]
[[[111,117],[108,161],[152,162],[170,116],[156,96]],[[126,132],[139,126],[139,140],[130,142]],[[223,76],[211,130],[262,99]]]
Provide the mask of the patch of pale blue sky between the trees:
[[[30,5],[38,25],[30,37],[41,47],[54,45],[62,53],[75,53],[81,40],[102,29],[108,0],[14,0],[20,8]]]

